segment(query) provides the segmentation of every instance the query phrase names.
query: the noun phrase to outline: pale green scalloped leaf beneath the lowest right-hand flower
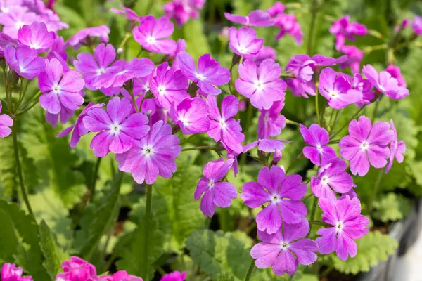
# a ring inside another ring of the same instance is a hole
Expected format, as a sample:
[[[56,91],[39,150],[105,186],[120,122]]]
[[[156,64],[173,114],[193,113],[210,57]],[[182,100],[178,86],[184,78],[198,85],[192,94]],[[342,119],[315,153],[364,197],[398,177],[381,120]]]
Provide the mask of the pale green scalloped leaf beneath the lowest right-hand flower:
[[[340,273],[357,274],[368,272],[371,266],[375,266],[378,261],[386,261],[388,255],[393,254],[398,243],[394,238],[384,235],[379,231],[373,231],[356,241],[357,255],[342,261],[333,254],[334,268]]]

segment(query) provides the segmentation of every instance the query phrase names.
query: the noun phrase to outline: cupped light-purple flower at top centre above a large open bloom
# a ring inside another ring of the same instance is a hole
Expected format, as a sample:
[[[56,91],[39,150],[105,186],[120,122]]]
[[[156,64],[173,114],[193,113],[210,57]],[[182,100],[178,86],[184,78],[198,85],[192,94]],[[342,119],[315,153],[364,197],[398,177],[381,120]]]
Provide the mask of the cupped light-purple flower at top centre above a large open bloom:
[[[236,27],[229,29],[229,46],[231,51],[240,56],[256,55],[260,52],[264,39],[257,38],[257,33],[252,27]]]

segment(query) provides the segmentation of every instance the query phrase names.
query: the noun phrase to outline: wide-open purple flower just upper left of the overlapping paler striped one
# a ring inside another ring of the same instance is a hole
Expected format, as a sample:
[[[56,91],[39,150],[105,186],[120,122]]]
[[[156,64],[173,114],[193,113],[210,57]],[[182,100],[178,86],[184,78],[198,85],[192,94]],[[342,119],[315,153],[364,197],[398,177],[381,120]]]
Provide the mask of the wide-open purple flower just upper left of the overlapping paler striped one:
[[[112,98],[107,104],[107,111],[102,108],[89,110],[83,122],[89,131],[99,132],[91,141],[96,157],[105,157],[110,151],[126,152],[135,140],[143,138],[149,131],[148,117],[133,113],[127,98]]]

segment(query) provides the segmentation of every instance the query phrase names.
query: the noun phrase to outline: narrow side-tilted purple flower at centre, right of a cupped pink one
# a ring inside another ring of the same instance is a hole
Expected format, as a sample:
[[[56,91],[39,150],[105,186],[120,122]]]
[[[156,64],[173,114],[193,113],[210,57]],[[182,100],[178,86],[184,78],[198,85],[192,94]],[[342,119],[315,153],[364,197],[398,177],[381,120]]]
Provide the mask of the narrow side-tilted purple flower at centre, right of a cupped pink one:
[[[245,135],[242,133],[240,120],[231,118],[238,112],[238,99],[235,96],[226,96],[222,101],[221,113],[215,96],[208,96],[207,104],[211,120],[208,136],[214,138],[214,141],[222,141],[226,148],[234,152],[243,152],[242,142],[245,140]]]

